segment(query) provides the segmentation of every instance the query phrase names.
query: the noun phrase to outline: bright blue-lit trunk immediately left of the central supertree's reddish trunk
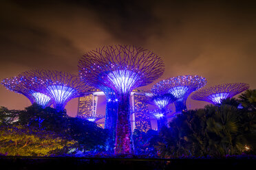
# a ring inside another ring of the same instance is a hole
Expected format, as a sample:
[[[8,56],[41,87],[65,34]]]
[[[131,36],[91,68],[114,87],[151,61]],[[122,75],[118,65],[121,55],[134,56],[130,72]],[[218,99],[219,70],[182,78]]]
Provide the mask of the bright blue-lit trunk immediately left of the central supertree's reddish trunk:
[[[109,101],[110,100],[110,101]],[[105,129],[109,130],[107,138],[107,151],[114,152],[116,143],[116,119],[118,103],[114,97],[107,97]]]

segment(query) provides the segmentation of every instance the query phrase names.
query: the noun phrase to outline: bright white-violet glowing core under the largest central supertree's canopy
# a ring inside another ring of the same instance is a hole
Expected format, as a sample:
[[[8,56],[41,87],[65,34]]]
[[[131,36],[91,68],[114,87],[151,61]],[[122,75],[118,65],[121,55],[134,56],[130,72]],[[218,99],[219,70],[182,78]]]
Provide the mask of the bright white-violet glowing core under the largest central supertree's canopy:
[[[119,93],[127,93],[129,90],[131,90],[140,77],[138,74],[132,71],[118,70],[111,71],[107,75],[107,78],[112,84],[114,84]]]

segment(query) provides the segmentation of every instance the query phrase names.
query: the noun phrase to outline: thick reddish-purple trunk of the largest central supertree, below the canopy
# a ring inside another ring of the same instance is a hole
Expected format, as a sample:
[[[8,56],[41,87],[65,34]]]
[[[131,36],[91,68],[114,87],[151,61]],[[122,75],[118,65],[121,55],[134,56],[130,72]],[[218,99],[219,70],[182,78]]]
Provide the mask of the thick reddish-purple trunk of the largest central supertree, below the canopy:
[[[118,114],[116,122],[115,154],[131,154],[131,123],[129,115],[129,95],[118,97]]]

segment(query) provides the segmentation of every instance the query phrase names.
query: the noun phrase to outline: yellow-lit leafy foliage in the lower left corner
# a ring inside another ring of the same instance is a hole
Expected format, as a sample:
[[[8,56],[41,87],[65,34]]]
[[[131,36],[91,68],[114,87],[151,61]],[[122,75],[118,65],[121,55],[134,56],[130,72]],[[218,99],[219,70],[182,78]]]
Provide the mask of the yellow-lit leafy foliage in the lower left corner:
[[[0,134],[0,154],[7,156],[63,154],[76,143],[54,132],[21,125],[1,126]]]

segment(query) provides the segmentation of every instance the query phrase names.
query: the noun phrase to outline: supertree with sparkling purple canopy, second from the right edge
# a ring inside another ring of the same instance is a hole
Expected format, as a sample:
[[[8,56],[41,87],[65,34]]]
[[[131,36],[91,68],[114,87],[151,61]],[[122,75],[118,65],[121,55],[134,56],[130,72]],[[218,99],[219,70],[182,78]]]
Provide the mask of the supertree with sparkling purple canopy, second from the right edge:
[[[186,99],[193,91],[206,85],[206,79],[198,75],[180,75],[162,80],[151,89],[154,93],[171,93],[177,100],[175,112],[186,110]]]

